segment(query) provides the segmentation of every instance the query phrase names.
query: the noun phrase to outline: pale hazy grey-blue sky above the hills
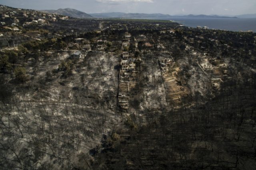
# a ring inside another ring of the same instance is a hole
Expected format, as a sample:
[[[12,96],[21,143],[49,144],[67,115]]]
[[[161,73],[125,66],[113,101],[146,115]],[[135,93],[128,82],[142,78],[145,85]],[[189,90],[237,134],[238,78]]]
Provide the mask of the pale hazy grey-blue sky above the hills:
[[[0,0],[0,4],[35,10],[75,8],[86,13],[255,14],[256,0]]]

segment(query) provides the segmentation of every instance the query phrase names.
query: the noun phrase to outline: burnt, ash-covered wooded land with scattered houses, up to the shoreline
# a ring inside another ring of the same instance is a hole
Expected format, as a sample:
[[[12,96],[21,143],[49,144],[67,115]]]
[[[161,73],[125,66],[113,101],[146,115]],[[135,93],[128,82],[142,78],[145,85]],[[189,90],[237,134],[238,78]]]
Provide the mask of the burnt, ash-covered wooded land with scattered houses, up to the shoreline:
[[[256,33],[0,18],[1,169],[256,168]]]

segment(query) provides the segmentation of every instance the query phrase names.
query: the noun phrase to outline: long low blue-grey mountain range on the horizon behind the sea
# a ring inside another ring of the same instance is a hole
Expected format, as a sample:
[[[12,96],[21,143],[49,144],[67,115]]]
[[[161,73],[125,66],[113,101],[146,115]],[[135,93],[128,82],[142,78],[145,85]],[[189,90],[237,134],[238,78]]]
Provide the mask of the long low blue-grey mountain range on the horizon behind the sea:
[[[143,14],[143,13],[123,13],[123,12],[110,12],[110,13],[97,13],[90,14],[95,18],[236,18],[227,16],[217,16],[217,15],[180,15],[180,16],[170,16],[168,14]]]

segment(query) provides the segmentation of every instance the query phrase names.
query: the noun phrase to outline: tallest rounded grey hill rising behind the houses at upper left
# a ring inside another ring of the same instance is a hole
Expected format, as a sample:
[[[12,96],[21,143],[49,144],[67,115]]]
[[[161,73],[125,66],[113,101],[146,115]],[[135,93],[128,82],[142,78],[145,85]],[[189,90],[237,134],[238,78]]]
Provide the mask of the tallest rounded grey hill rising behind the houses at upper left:
[[[72,8],[65,8],[65,9],[60,8],[58,10],[41,10],[41,12],[70,16],[73,18],[93,18],[92,16],[90,16],[89,14],[86,14],[85,12],[78,11]]]

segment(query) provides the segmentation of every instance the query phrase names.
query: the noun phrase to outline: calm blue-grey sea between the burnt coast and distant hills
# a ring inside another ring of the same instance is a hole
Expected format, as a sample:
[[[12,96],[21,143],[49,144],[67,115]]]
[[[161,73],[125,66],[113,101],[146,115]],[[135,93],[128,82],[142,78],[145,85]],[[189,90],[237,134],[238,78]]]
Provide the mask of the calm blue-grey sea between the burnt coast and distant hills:
[[[172,20],[187,27],[207,26],[209,29],[248,31],[256,33],[256,18],[140,18],[149,20]]]

